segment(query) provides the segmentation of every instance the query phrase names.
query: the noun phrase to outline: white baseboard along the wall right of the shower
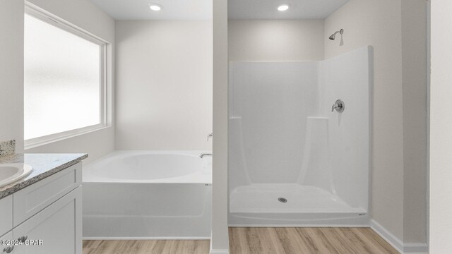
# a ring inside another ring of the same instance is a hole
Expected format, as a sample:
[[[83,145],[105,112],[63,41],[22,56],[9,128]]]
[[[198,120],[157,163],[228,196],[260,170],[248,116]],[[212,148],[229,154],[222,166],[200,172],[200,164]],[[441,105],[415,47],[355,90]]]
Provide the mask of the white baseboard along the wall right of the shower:
[[[381,226],[374,219],[370,220],[370,227],[376,234],[379,234],[381,238],[387,241],[391,246],[393,246],[399,253],[402,254],[427,254],[428,246],[427,243],[403,243],[399,238],[394,236],[390,231]]]

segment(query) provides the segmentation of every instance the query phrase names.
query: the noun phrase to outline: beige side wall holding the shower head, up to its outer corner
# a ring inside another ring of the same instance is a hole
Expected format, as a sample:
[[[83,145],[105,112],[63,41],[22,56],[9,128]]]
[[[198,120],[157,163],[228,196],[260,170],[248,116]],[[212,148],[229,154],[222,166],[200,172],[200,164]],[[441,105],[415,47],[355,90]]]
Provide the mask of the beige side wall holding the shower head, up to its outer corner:
[[[371,216],[403,239],[401,0],[350,0],[325,20],[325,57],[374,47]],[[344,29],[335,41],[328,37]]]

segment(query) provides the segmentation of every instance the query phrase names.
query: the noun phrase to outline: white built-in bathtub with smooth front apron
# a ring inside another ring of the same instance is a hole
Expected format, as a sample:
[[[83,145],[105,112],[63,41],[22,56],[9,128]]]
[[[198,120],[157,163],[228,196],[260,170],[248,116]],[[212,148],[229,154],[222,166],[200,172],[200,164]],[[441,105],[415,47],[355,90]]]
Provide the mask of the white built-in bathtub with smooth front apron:
[[[206,151],[114,151],[83,167],[83,238],[210,238]]]

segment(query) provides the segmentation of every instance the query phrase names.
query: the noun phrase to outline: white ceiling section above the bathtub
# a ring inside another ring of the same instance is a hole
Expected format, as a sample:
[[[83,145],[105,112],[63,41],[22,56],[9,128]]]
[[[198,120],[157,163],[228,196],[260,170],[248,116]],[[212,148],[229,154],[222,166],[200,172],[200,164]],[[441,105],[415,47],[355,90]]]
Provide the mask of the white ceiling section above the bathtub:
[[[90,0],[115,20],[210,20],[212,0]],[[160,4],[162,11],[151,11]]]

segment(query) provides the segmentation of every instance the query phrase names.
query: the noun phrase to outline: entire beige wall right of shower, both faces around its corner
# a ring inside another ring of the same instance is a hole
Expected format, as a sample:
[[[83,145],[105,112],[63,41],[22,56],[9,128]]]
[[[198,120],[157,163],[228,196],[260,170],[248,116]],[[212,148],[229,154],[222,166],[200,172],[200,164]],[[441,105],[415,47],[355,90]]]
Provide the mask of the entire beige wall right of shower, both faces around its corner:
[[[351,0],[326,18],[323,37],[326,59],[374,47],[371,215],[405,243],[424,243],[427,231],[425,10],[424,0]],[[340,28],[343,45],[328,40]]]

